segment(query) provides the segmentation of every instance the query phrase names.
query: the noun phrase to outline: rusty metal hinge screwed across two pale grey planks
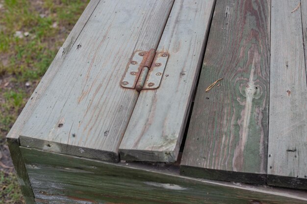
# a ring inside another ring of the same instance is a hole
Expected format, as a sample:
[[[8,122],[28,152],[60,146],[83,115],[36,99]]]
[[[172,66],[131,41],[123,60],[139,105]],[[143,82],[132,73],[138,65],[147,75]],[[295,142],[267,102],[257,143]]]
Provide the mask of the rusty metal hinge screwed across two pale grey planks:
[[[163,76],[169,54],[166,52],[135,51],[127,65],[121,86],[142,91],[157,89]]]

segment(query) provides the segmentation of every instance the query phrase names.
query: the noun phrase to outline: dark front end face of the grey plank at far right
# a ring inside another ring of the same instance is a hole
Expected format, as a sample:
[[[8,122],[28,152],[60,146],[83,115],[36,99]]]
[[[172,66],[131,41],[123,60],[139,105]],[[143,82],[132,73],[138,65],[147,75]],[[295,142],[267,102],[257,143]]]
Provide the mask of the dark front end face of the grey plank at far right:
[[[267,184],[280,187],[296,188],[307,190],[307,178],[294,178],[278,175],[267,175]]]

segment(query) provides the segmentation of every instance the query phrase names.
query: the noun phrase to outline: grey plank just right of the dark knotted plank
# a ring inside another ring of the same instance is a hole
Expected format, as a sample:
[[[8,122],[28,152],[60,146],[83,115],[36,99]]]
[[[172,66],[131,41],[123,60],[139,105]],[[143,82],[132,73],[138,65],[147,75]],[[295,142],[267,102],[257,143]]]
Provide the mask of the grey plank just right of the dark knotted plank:
[[[293,11],[299,3],[272,0],[267,182],[307,189],[306,65],[301,9]]]

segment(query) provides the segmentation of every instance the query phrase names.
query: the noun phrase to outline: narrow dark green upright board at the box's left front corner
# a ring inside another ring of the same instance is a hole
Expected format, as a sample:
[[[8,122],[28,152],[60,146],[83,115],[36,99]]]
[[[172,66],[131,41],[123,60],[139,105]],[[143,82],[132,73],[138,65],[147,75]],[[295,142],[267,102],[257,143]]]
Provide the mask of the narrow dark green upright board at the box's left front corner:
[[[34,204],[34,195],[26,172],[26,166],[20,152],[19,140],[7,138],[7,143],[16,171],[17,180],[20,184],[21,192],[24,196],[26,204]]]

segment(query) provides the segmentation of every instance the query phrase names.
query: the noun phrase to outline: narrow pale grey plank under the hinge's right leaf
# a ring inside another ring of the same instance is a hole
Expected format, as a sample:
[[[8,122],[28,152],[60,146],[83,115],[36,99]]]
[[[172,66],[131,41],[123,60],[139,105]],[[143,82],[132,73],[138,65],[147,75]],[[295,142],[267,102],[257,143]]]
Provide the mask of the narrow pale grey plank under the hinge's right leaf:
[[[175,162],[215,0],[177,0],[157,52],[169,58],[160,87],[143,90],[120,145],[121,159]]]

